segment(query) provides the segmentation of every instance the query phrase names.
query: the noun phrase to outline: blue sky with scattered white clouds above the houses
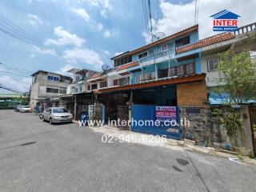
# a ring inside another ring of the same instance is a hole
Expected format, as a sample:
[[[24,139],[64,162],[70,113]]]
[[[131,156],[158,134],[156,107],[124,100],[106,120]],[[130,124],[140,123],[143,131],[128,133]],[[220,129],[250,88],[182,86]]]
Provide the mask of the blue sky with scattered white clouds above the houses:
[[[223,9],[241,15],[241,24],[255,22],[256,1],[246,2],[199,1],[200,38],[216,34],[209,16]],[[194,25],[194,1],[159,0],[157,6],[157,1],[151,0],[151,9],[154,31],[169,35]],[[102,64],[109,64],[114,54],[148,43],[142,0],[2,0],[0,10],[1,16],[63,57],[26,45],[0,31],[0,70],[6,70],[6,66],[62,74],[71,67],[101,70]],[[27,90],[30,82],[30,78],[0,72],[0,83],[15,90]]]

